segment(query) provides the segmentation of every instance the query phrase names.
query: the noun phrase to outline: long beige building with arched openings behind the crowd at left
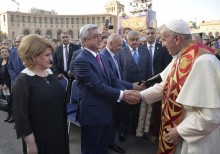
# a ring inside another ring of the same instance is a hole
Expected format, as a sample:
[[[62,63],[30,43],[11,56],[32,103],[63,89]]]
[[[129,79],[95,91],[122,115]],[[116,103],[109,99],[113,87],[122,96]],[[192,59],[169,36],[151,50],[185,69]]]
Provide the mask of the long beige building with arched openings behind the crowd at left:
[[[79,29],[85,24],[97,24],[103,27],[109,19],[118,31],[118,14],[124,11],[124,5],[110,1],[105,5],[105,13],[88,15],[57,15],[55,11],[34,9],[30,13],[7,11],[0,15],[0,30],[6,38],[14,39],[17,35],[39,34],[50,40],[59,40],[60,34],[67,31],[74,40],[79,39]]]

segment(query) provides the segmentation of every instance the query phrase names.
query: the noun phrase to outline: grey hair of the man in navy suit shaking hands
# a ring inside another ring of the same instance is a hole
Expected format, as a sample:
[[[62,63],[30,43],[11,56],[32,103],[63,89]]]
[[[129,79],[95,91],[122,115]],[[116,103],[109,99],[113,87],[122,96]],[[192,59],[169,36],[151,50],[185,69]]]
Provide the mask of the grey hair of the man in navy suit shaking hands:
[[[89,31],[94,30],[94,29],[98,29],[98,26],[95,24],[87,24],[87,25],[82,26],[79,30],[79,37],[80,37],[81,41],[85,38],[88,38]]]

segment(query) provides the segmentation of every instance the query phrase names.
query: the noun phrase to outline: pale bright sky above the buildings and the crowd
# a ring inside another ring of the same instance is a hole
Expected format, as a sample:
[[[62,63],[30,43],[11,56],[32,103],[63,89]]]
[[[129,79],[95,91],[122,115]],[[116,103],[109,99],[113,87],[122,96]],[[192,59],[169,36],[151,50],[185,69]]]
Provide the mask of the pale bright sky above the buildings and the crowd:
[[[103,13],[104,5],[109,0],[15,0],[21,12],[28,12],[30,8],[55,10],[58,14],[98,14]],[[125,12],[129,12],[130,0],[118,0],[125,5]],[[195,21],[220,20],[220,0],[152,0],[153,10],[156,11],[158,26],[172,19]],[[0,0],[0,13],[16,11],[17,4],[12,0]]]

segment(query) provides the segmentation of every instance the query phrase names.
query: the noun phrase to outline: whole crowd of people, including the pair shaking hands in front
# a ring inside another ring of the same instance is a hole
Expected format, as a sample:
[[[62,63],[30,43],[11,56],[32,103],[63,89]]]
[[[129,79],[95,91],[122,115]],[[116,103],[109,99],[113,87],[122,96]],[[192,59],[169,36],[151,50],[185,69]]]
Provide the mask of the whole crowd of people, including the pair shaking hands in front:
[[[217,154],[220,144],[220,38],[192,35],[183,20],[158,32],[123,34],[81,27],[55,46],[37,34],[0,46],[0,89],[26,154],[68,154],[67,109],[77,80],[81,153],[126,153],[126,136],[158,144],[158,154]],[[59,79],[66,78],[65,89]],[[118,130],[118,136],[116,136]],[[147,146],[147,145],[146,145]],[[146,151],[147,153],[147,151]]]

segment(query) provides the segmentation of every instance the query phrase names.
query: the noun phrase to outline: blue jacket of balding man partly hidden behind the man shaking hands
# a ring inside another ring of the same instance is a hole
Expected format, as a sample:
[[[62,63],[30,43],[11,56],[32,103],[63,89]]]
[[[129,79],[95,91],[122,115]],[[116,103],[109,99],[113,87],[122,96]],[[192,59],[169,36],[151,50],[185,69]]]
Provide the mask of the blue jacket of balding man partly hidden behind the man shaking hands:
[[[107,50],[106,48],[104,48],[100,53],[101,53],[102,55],[104,55],[104,56],[107,57],[107,59],[109,60],[109,64],[110,64],[110,67],[111,67],[111,70],[112,70],[113,74],[119,79],[119,75],[118,75],[118,71],[117,71],[115,62],[114,62],[114,60],[112,59],[112,56],[110,55],[110,53],[108,52],[108,50]],[[121,70],[121,66],[120,66],[119,61],[118,61],[118,64],[119,64],[119,70],[120,70],[121,79],[122,79],[122,80],[120,80],[121,84],[122,84],[126,89],[132,89],[132,88],[133,88],[133,84],[132,84],[132,83],[123,81],[123,74],[122,74],[122,70]]]

